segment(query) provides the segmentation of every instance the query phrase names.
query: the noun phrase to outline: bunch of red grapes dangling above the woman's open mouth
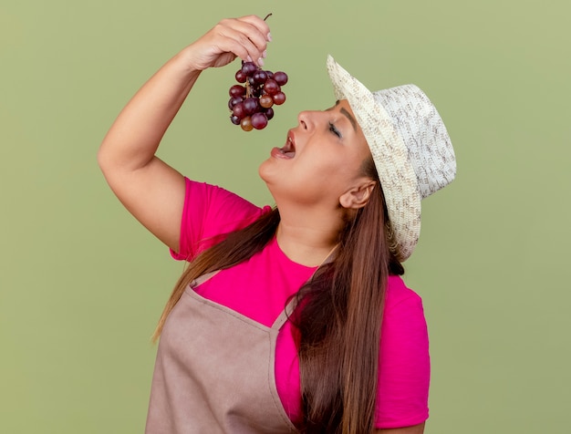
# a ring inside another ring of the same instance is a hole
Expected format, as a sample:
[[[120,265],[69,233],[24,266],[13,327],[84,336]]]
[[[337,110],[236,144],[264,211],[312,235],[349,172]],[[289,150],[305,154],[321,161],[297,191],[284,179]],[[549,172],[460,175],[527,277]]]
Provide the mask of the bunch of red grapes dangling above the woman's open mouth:
[[[281,106],[285,102],[282,86],[287,83],[287,74],[265,71],[254,62],[242,62],[235,78],[244,84],[230,88],[230,120],[244,131],[265,129],[268,120],[274,118],[274,105]]]

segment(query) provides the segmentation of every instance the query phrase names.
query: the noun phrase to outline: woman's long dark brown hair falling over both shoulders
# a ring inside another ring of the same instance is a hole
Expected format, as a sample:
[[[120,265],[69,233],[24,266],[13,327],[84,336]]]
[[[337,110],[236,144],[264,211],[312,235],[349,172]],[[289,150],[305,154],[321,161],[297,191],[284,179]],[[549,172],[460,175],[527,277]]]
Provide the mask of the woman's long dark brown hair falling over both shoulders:
[[[334,260],[321,266],[298,293],[290,320],[299,332],[299,365],[306,434],[374,431],[380,325],[389,274],[403,274],[372,159],[363,173],[378,183],[367,205],[347,219]],[[188,284],[262,250],[280,221],[274,209],[201,253],[172,291],[153,338]]]

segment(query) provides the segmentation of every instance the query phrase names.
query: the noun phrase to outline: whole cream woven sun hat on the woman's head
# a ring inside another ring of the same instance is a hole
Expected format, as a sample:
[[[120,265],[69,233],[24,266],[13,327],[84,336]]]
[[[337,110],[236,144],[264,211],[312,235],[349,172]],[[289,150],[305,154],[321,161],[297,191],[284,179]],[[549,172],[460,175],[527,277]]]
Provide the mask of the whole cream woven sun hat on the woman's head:
[[[370,92],[333,57],[327,72],[337,99],[347,99],[375,161],[389,221],[405,261],[420,237],[420,201],[456,176],[444,122],[415,85]]]

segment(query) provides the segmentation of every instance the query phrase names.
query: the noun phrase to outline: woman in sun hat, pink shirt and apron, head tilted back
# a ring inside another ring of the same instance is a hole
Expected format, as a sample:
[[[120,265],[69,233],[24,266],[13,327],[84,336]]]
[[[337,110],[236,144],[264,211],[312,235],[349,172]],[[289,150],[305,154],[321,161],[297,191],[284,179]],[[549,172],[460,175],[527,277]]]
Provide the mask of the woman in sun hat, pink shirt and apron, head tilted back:
[[[422,433],[427,327],[401,263],[420,199],[456,167],[426,95],[371,93],[329,57],[337,102],[302,111],[260,165],[273,208],[155,155],[202,71],[262,65],[270,40],[257,16],[221,21],[140,88],[99,150],[120,202],[189,262],[157,328],[146,432]]]

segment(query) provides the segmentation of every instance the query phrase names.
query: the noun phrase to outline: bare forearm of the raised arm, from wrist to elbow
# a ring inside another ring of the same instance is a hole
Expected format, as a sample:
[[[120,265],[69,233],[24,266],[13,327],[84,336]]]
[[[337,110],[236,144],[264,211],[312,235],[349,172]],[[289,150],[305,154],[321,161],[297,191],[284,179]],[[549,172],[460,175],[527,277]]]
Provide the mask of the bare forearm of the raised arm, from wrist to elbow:
[[[188,61],[192,47],[172,57],[122,109],[98,154],[105,171],[136,171],[153,159],[165,131],[200,75]]]

